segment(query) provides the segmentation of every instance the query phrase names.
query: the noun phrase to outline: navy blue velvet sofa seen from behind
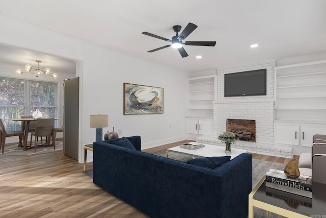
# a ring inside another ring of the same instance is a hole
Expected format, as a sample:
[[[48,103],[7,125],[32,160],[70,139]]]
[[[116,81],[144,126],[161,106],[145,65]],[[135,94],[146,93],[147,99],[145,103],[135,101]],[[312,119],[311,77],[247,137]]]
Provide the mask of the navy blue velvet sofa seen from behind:
[[[247,217],[252,156],[241,154],[218,169],[94,142],[93,182],[150,217]]]

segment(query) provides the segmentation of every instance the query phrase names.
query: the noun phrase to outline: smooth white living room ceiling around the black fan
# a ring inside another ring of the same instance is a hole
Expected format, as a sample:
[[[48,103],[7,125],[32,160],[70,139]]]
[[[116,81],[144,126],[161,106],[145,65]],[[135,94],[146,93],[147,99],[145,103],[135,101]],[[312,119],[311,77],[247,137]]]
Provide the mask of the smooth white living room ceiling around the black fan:
[[[325,0],[0,1],[1,16],[187,71],[325,52],[325,12]],[[216,45],[185,45],[186,58],[172,47],[147,53],[169,42],[142,32],[170,39],[188,22],[198,28],[185,41]]]

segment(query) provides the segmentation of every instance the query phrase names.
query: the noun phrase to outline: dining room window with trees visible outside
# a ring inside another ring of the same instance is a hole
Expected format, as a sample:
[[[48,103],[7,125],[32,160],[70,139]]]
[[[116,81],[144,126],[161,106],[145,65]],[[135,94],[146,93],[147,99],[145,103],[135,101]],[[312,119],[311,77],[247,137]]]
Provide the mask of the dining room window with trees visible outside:
[[[42,117],[57,114],[57,83],[19,79],[0,79],[0,117],[6,130],[21,130],[21,122],[12,118],[31,116],[36,109]]]

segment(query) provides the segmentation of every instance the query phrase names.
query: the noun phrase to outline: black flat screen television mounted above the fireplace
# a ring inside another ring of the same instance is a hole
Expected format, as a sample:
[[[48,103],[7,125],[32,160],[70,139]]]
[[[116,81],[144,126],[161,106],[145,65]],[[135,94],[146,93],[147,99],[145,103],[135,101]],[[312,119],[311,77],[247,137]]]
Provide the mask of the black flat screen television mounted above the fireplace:
[[[266,69],[224,75],[224,96],[266,95]]]

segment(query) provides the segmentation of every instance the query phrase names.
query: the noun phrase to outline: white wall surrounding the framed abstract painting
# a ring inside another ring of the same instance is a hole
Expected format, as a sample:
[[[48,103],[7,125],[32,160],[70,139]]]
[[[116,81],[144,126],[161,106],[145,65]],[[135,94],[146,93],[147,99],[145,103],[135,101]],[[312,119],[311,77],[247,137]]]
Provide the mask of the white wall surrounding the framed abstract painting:
[[[142,149],[185,138],[187,73],[117,53],[0,16],[0,43],[79,60],[80,76],[79,162],[83,144],[95,140],[90,114],[108,114],[109,127],[120,136],[140,135]],[[22,36],[22,33],[23,36]],[[164,88],[164,114],[123,115],[123,83]],[[171,126],[171,128],[170,128]],[[92,153],[88,155],[92,158]]]

